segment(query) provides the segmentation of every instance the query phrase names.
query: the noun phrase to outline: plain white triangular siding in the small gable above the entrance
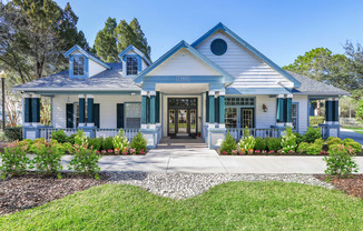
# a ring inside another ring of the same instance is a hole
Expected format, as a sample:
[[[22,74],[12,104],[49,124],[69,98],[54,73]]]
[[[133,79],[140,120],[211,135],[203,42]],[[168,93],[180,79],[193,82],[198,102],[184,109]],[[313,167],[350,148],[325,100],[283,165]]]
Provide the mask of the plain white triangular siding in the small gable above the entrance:
[[[183,48],[147,76],[220,76],[220,73]]]

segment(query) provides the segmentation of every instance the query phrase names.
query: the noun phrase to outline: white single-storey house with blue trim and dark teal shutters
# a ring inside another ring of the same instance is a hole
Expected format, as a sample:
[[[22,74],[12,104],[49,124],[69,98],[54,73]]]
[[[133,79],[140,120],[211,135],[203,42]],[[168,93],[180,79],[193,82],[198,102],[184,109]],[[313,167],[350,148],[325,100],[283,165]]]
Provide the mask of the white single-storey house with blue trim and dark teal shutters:
[[[105,63],[75,46],[69,70],[14,88],[23,96],[23,137],[52,130],[128,138],[140,130],[148,147],[163,137],[195,138],[220,145],[226,131],[278,137],[291,125],[304,133],[310,101],[325,100],[324,135],[340,134],[339,97],[349,92],[284,71],[218,23],[192,44],[180,41],[155,62],[134,46]],[[40,124],[40,97],[51,99],[51,127]]]

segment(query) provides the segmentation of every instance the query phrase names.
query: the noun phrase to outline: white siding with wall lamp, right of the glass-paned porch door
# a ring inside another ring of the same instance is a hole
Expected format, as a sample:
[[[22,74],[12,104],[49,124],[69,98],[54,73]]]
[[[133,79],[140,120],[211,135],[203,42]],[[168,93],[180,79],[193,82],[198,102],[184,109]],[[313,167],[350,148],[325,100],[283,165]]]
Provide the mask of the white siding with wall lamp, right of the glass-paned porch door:
[[[266,104],[267,112],[264,112],[263,103]],[[256,128],[267,129],[271,125],[276,125],[276,98],[256,96]]]

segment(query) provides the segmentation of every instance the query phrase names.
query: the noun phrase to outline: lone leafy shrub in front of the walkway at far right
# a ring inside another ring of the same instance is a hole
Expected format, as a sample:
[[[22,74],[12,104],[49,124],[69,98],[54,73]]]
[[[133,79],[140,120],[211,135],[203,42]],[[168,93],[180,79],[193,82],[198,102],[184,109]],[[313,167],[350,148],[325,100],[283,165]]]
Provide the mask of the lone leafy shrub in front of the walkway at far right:
[[[324,157],[326,161],[325,174],[347,177],[353,172],[357,172],[357,165],[353,161],[353,152],[346,150],[343,144],[335,144],[335,148],[328,150],[328,157]]]

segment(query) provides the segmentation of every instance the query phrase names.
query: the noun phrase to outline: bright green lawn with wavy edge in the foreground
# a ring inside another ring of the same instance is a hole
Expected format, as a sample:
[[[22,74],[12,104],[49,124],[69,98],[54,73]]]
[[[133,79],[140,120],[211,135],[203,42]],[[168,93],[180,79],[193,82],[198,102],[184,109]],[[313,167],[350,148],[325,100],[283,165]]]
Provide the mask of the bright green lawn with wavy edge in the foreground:
[[[363,201],[283,182],[229,182],[171,200],[105,184],[0,217],[0,230],[362,230]]]

